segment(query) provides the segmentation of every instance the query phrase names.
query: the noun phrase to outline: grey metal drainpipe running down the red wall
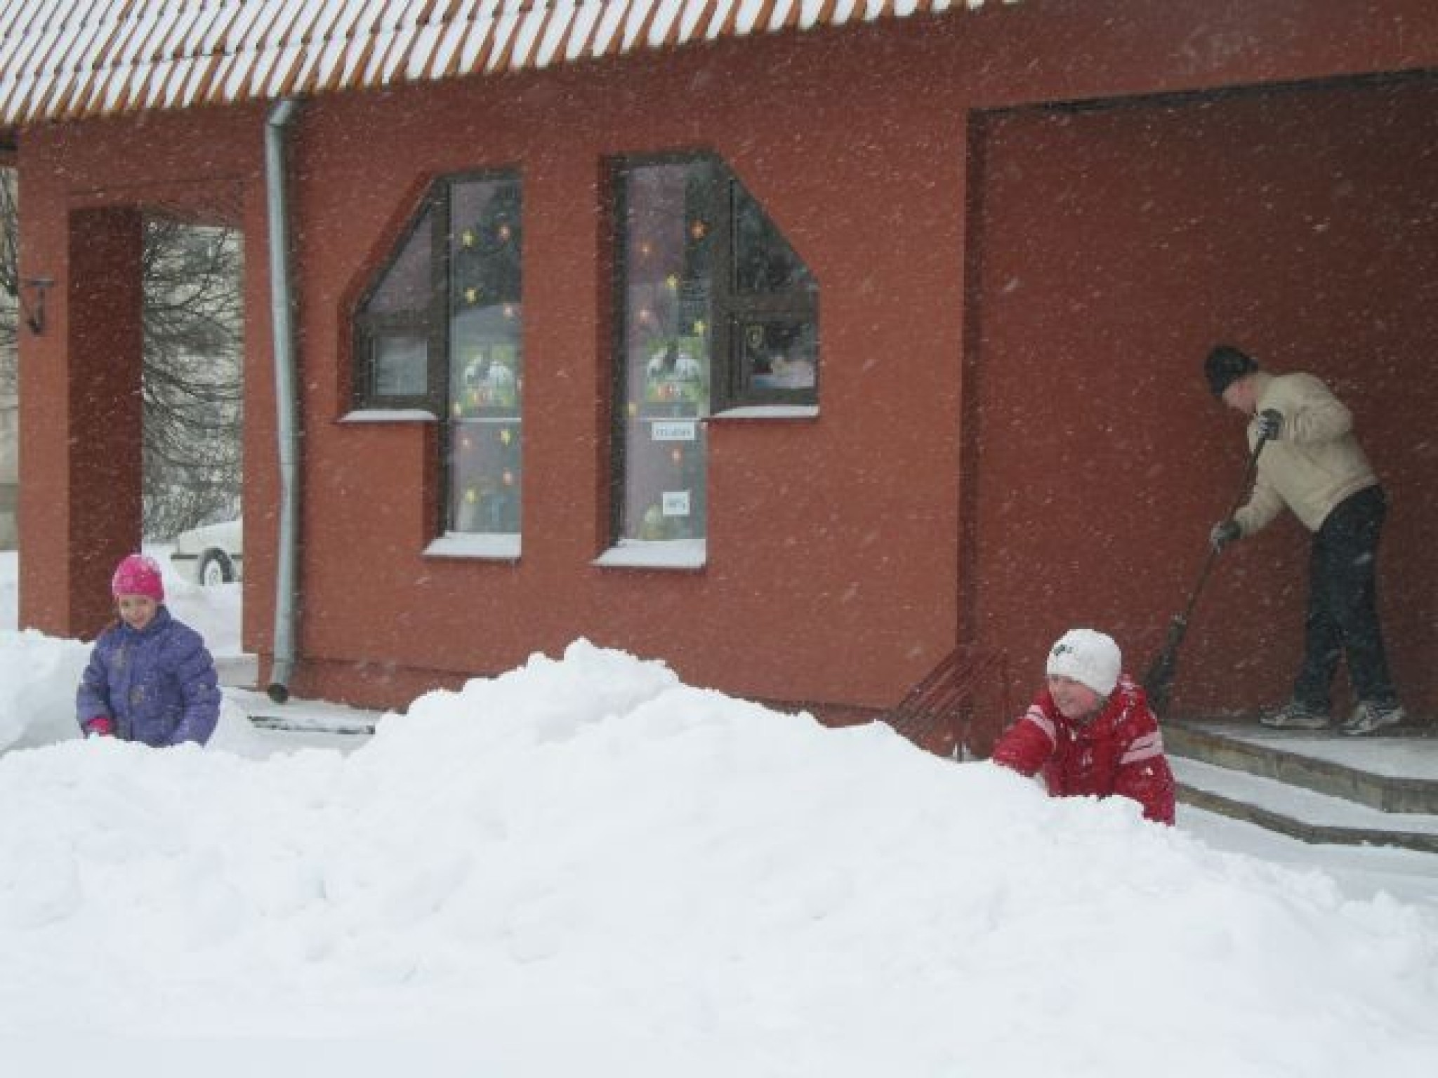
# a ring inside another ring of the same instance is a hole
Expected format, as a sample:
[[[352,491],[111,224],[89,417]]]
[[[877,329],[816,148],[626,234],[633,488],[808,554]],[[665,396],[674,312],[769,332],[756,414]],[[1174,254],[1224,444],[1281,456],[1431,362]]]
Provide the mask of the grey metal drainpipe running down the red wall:
[[[269,213],[270,325],[275,338],[275,425],[279,436],[279,552],[275,572],[275,661],[269,699],[289,700],[295,667],[295,607],[299,558],[299,424],[296,408],[293,287],[289,272],[289,195],[285,187],[285,128],[299,111],[293,98],[276,102],[265,124],[265,201]]]

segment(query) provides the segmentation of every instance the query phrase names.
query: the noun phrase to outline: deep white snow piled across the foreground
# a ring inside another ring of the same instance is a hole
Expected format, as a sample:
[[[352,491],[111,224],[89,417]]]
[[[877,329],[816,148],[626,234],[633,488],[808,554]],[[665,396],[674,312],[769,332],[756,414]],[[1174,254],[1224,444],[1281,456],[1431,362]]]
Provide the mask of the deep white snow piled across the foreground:
[[[81,742],[13,566],[7,1075],[1438,1072],[1438,858],[1050,801],[584,642],[348,752]],[[237,588],[171,594],[237,647]]]

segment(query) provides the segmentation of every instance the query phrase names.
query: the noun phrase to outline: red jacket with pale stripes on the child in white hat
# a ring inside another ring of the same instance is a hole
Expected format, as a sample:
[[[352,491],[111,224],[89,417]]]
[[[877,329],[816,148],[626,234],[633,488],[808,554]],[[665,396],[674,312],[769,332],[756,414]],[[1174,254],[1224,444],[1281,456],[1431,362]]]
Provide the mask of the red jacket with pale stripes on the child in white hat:
[[[1044,688],[994,746],[994,762],[1021,775],[1043,772],[1055,798],[1117,793],[1143,806],[1143,815],[1173,822],[1173,772],[1163,734],[1143,690],[1127,674],[1093,719],[1066,719]]]

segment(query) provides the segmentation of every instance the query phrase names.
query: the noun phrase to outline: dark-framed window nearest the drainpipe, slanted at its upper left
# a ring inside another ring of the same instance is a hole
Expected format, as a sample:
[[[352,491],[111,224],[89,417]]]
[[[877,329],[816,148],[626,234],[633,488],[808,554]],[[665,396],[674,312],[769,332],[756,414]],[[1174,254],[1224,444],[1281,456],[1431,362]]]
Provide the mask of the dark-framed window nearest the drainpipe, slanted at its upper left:
[[[436,183],[355,313],[355,407],[440,421],[447,536],[518,543],[522,313],[521,193],[509,174]]]

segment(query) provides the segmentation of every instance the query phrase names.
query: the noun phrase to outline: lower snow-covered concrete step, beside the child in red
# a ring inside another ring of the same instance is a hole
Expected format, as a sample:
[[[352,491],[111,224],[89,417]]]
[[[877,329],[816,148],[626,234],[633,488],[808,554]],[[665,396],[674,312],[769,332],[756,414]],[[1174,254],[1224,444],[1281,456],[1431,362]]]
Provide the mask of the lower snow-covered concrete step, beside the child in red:
[[[1402,847],[1438,854],[1438,815],[1385,812],[1179,755],[1171,755],[1169,763],[1185,805],[1245,819],[1304,842]]]

